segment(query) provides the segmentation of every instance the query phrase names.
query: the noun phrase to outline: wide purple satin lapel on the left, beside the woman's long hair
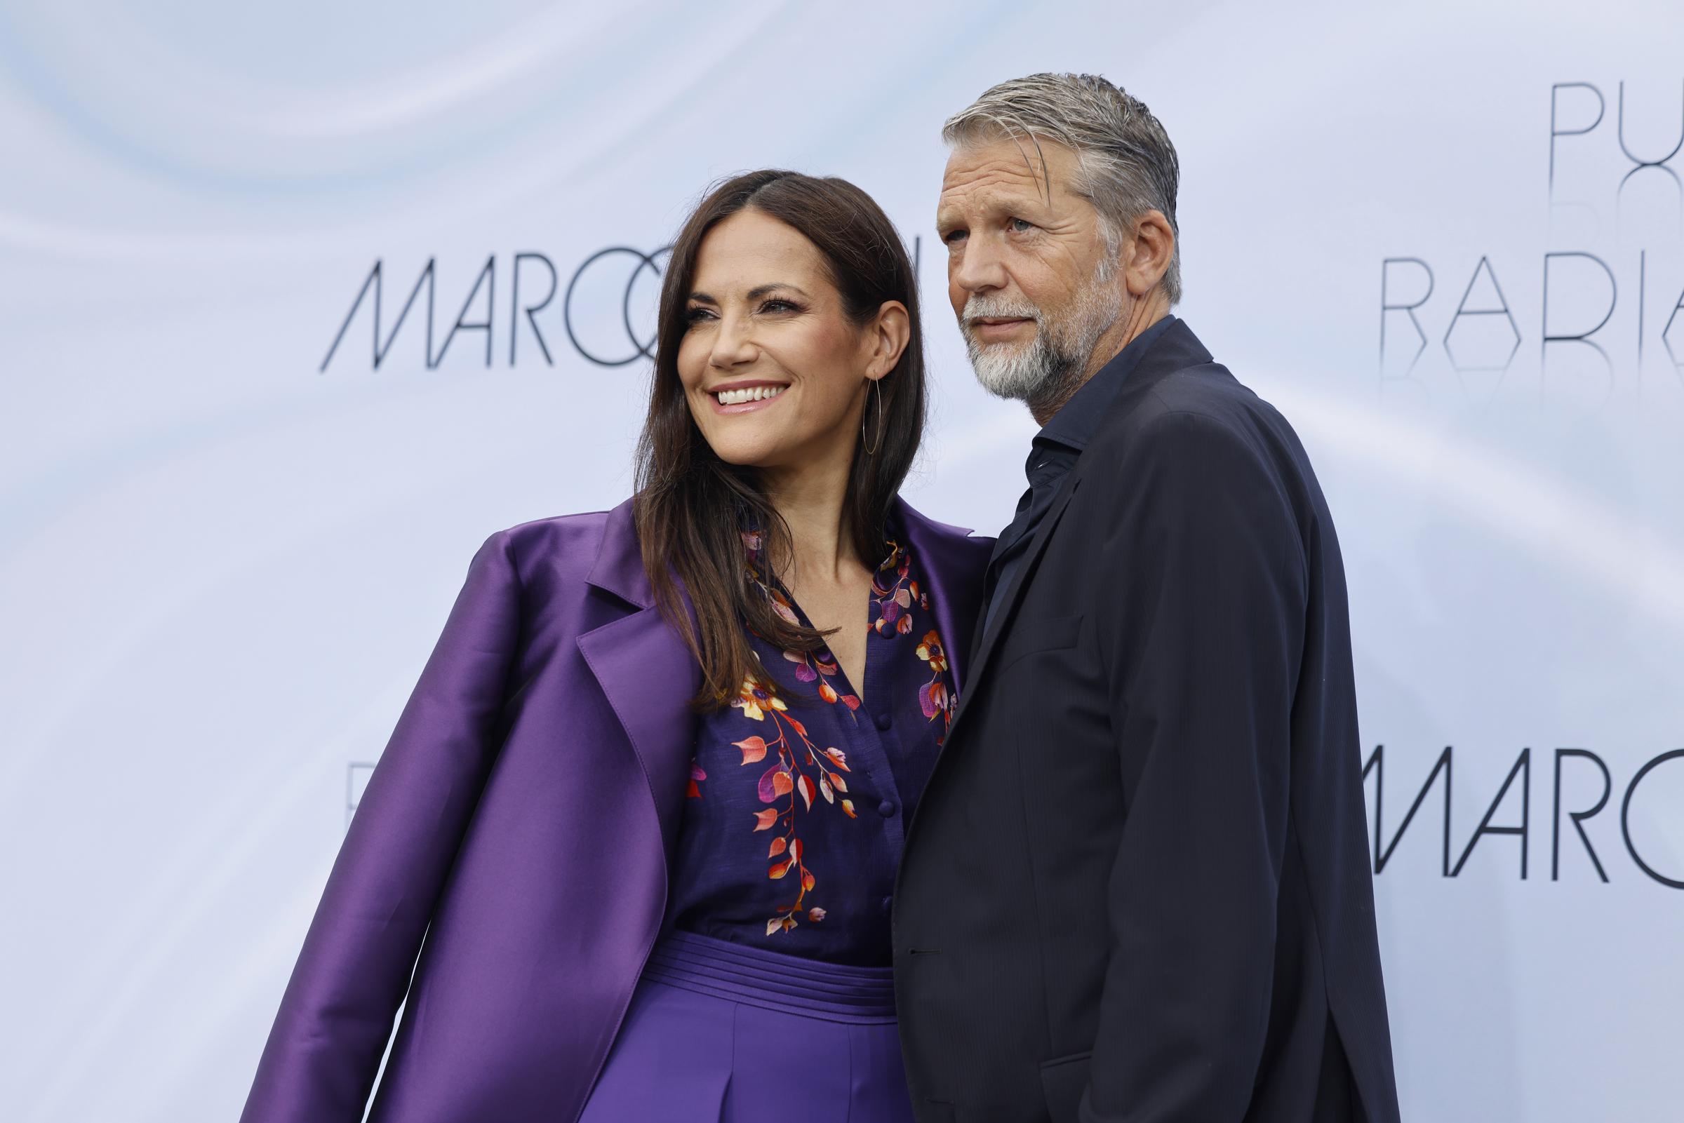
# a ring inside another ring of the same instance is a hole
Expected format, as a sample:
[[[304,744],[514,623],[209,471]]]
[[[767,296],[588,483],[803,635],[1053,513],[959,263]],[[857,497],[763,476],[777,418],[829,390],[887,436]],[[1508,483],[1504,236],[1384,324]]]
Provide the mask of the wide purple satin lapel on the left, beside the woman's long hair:
[[[655,606],[632,522],[632,500],[608,512],[603,546],[586,581],[637,608],[581,633],[578,643],[643,766],[670,855],[695,746],[695,714],[689,700],[701,689],[702,675],[690,648]],[[687,598],[684,606],[689,609]]]

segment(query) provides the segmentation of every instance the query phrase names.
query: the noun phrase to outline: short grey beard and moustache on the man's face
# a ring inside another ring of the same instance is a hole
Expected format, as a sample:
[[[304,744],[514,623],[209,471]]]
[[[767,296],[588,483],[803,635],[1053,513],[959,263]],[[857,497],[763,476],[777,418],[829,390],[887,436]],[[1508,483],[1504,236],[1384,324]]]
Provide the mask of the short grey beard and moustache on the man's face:
[[[1054,328],[1029,301],[972,296],[963,320],[978,317],[1022,317],[1036,322],[1029,343],[982,343],[965,328],[965,354],[982,389],[997,397],[1044,406],[1064,399],[1088,369],[1100,337],[1111,330],[1123,311],[1123,298],[1098,278],[1076,298],[1071,315]]]

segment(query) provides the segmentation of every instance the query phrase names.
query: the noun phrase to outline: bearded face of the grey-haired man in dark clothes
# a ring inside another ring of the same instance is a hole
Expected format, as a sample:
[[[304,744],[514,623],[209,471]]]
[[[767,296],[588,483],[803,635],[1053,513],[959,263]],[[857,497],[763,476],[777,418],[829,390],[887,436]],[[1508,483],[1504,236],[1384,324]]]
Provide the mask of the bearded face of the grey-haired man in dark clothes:
[[[1125,306],[1076,168],[1063,145],[1002,136],[957,148],[941,180],[936,231],[970,362],[985,389],[1032,407],[1074,389]]]

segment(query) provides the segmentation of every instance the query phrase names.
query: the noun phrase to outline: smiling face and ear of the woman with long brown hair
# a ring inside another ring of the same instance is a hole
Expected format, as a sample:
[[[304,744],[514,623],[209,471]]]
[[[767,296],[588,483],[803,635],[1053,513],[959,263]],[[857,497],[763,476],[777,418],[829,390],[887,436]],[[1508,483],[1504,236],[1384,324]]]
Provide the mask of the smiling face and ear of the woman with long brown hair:
[[[844,470],[859,439],[867,379],[894,369],[906,342],[891,301],[854,325],[823,256],[758,210],[716,224],[695,254],[679,347],[690,416],[714,453],[753,468]]]

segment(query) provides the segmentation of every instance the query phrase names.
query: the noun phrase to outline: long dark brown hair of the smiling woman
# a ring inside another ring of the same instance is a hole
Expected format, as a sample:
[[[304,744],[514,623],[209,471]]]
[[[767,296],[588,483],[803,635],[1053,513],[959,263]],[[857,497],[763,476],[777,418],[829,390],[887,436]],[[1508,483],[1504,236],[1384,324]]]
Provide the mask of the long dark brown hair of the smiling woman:
[[[918,281],[894,224],[872,197],[847,180],[778,170],[748,172],[714,187],[679,232],[662,283],[655,375],[638,438],[633,503],[655,601],[702,667],[702,689],[690,700],[702,712],[729,704],[744,680],[765,679],[743,633],[744,621],[786,652],[825,645],[825,633],[781,618],[749,581],[743,530],[759,529],[763,557],[773,559],[790,556],[790,530],[766,498],[758,473],[714,455],[679,381],[695,254],[707,231],[739,210],[758,210],[800,231],[823,256],[842,308],[855,325],[864,327],[884,301],[906,305],[911,338],[874,391],[882,394],[881,433],[872,402],[866,428],[874,451],[867,455],[855,444],[842,507],[842,532],[867,564],[887,549],[889,505],[925,429]],[[694,626],[680,586],[695,609]]]

